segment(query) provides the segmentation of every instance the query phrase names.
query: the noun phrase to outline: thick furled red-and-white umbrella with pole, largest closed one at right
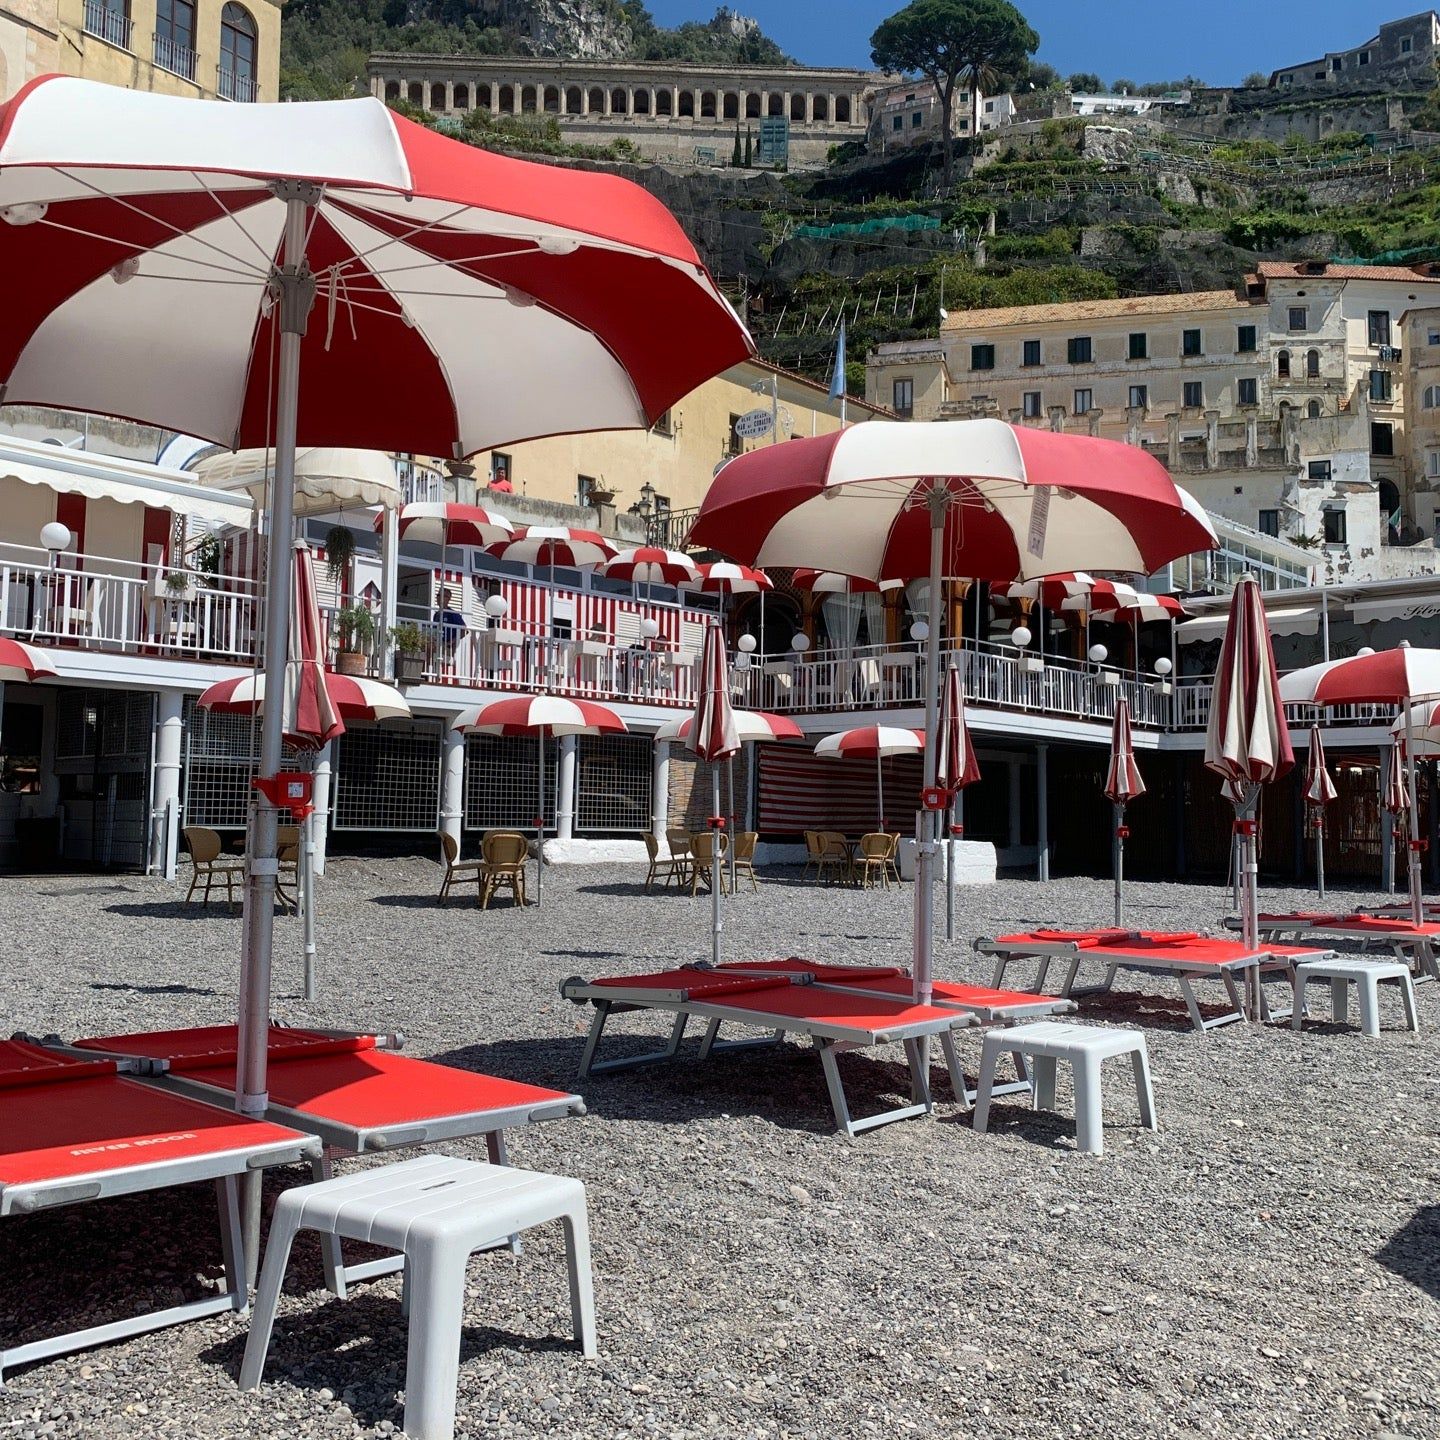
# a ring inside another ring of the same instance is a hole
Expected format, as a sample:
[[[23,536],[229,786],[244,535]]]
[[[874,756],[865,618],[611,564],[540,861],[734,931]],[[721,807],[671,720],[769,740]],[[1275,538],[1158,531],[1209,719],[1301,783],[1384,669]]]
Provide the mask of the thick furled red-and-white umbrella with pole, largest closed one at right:
[[[1295,765],[1284,720],[1282,683],[1253,575],[1243,575],[1230,598],[1230,618],[1220,647],[1215,688],[1205,732],[1205,766],[1227,785],[1240,838],[1241,924],[1244,943],[1260,943],[1259,827],[1260,786]]]

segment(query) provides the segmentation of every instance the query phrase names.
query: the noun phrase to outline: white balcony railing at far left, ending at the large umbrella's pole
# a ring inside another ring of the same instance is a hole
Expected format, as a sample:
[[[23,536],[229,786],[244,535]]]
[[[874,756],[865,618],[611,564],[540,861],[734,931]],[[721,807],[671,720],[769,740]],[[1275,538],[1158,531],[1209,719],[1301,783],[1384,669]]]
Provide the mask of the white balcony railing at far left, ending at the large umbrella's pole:
[[[42,645],[248,661],[258,615],[252,580],[96,556],[0,559],[0,629]]]

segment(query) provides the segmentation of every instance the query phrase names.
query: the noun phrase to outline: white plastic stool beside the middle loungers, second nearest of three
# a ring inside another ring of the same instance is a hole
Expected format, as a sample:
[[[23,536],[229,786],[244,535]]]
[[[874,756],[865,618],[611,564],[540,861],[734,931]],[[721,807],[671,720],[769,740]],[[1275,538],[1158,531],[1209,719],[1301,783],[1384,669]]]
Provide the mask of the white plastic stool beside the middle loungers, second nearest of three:
[[[991,1094],[995,1089],[995,1064],[1002,1054],[1027,1056],[1031,1061],[1032,1097],[1037,1110],[1056,1107],[1056,1067],[1070,1064],[1076,1084],[1076,1143],[1090,1153],[1104,1151],[1104,1122],[1100,1100],[1100,1064],[1116,1056],[1129,1056],[1135,1071],[1135,1094],[1140,1103],[1140,1123],[1158,1129],[1155,1096],[1151,1092],[1151,1063],[1145,1037],[1138,1030],[1102,1030],[1097,1025],[1061,1025],[1041,1020],[1032,1025],[989,1030],[981,1044],[981,1079],[975,1099],[975,1129],[989,1122]]]

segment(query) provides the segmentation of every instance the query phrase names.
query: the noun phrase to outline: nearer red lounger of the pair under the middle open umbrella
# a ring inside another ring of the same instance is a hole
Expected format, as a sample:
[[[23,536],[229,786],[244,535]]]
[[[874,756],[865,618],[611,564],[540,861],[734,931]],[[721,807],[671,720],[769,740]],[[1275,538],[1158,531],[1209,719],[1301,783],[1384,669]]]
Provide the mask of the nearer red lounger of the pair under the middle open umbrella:
[[[965,1094],[965,1079],[955,1053],[955,1031],[972,1024],[972,1017],[937,1005],[913,1005],[906,999],[816,985],[799,975],[772,978],[700,969],[616,975],[596,981],[576,976],[562,984],[560,994],[576,1004],[589,1001],[595,1005],[595,1020],[580,1056],[582,1076],[672,1060],[680,1051],[685,1027],[694,1017],[706,1021],[706,1035],[698,1051],[701,1060],[714,1050],[776,1045],[788,1034],[808,1035],[819,1051],[825,1070],[835,1125],[851,1136],[891,1120],[930,1113],[930,1080],[922,1060],[922,1041],[932,1037],[940,1041],[956,1094]],[[674,1014],[667,1045],[642,1056],[596,1060],[595,1053],[609,1017],[642,1009]],[[721,1025],[750,1025],[772,1034],[766,1040],[721,1041]],[[837,1053],[896,1043],[904,1047],[913,1103],[852,1119],[835,1063]]]

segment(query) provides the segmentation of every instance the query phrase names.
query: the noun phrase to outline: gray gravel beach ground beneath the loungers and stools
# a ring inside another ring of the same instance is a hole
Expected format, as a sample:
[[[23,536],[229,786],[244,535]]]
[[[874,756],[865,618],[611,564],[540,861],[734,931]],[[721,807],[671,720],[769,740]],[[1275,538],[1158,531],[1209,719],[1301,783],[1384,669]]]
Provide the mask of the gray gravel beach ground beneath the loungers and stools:
[[[403,1028],[416,1056],[570,1087],[589,1012],[557,982],[707,948],[707,901],[642,896],[634,870],[552,870],[539,912],[438,910],[435,886],[418,860],[333,861],[324,999],[297,998],[300,933],[282,920],[276,1012]],[[1130,894],[1138,926],[1218,927],[1225,907],[1215,887]],[[971,937],[1103,923],[1109,903],[1103,881],[972,890],[966,943],[943,946],[940,971],[981,978]],[[160,881],[40,877],[0,881],[0,916],[7,1028],[233,1015],[239,920],[223,907],[180,906]],[[909,887],[821,890],[783,873],[727,907],[727,943],[904,962],[909,922]],[[1440,988],[1420,991],[1423,1034],[1378,1041],[1329,1025],[1201,1038],[1174,985],[1138,988],[1143,999],[1090,1015],[1146,1027],[1161,1130],[1135,1128],[1123,1070],[1107,1074],[1102,1159],[1076,1153],[1068,1119],[1014,1100],[985,1136],[946,1103],[933,1122],[837,1139],[799,1045],[585,1084],[589,1116],[516,1135],[513,1159],[589,1187],[600,1359],[569,1348],[559,1234],[531,1231],[520,1259],[477,1257],[456,1433],[1440,1433]],[[662,1021],[619,1028],[654,1035]],[[973,1035],[962,1050],[973,1064]],[[890,1060],[842,1066],[857,1110],[900,1092]],[[7,1338],[173,1303],[219,1276],[203,1189],[7,1220],[0,1237]],[[336,1302],[301,1244],[255,1395],[235,1390],[243,1338],[243,1320],[220,1318],[22,1369],[0,1392],[0,1437],[399,1427],[396,1280]]]

